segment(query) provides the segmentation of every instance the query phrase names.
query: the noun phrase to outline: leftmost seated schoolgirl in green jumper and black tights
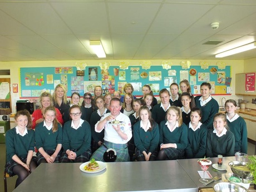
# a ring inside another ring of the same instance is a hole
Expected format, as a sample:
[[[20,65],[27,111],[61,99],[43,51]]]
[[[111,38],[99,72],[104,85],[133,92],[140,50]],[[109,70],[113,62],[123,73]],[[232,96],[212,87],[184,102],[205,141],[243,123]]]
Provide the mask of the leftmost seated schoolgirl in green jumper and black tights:
[[[22,183],[36,167],[35,131],[31,129],[32,120],[27,110],[17,111],[14,116],[17,124],[6,132],[6,172],[10,175],[18,175],[15,188]]]

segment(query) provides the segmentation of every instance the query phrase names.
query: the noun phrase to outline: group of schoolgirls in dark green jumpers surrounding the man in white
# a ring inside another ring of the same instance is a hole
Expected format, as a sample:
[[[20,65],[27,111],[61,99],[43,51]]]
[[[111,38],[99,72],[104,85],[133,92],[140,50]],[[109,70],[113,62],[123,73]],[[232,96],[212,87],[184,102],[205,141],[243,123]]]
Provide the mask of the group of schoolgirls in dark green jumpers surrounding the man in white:
[[[236,102],[227,100],[227,114],[219,114],[218,102],[210,96],[209,83],[201,84],[201,96],[195,98],[190,92],[188,81],[180,82],[181,95],[178,93],[178,84],[173,83],[170,86],[171,95],[166,89],[160,91],[160,104],[157,104],[148,85],[142,87],[144,96],[136,100],[131,95],[133,90],[129,93],[129,88],[126,89],[122,102],[124,111],[130,112],[127,116],[132,124],[133,137],[128,144],[134,145],[129,148],[131,160],[172,160],[205,155],[215,157],[220,154],[233,156],[236,151],[247,152],[246,124],[242,117],[235,114]],[[82,107],[90,109],[92,101],[97,106],[97,110],[90,113],[91,125],[83,120],[82,115],[86,112],[75,101],[68,107],[68,115],[72,120],[66,121],[63,129],[57,120],[58,107],[45,108],[44,120],[35,122],[35,131],[29,129],[32,121],[28,112],[17,112],[14,117],[17,127],[6,134],[6,170],[10,175],[18,175],[16,187],[40,163],[86,162],[92,154],[91,149],[95,151],[102,145],[104,132],[96,133],[91,127],[107,112],[108,94],[104,98],[102,93],[97,96],[96,91],[95,88],[95,99],[90,94],[83,97]],[[120,98],[120,93],[115,93],[113,96]],[[62,91],[61,94],[59,97],[63,98]],[[77,97],[74,100],[79,101],[80,96]],[[90,105],[86,106],[87,100]],[[67,112],[67,109],[62,111]],[[63,119],[65,112],[61,114]],[[33,157],[35,141],[37,157]]]

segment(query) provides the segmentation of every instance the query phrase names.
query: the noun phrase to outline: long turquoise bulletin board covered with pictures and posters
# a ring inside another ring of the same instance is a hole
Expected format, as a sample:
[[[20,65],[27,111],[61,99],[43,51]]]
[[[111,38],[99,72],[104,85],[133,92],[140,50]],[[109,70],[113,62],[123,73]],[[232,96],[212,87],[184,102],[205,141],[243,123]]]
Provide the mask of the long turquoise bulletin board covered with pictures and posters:
[[[119,66],[110,66],[108,70],[90,66],[84,71],[77,71],[76,67],[23,67],[19,68],[19,95],[21,99],[37,98],[43,91],[52,93],[59,83],[66,87],[67,96],[71,96],[72,92],[78,92],[81,96],[85,92],[93,93],[97,85],[102,86],[104,93],[115,90],[122,92],[125,83],[132,84],[135,96],[142,95],[142,86],[145,84],[150,85],[154,95],[159,95],[162,88],[169,90],[171,83],[179,84],[184,79],[190,82],[194,95],[200,94],[203,82],[211,83],[211,95],[231,95],[231,74],[230,66],[224,69],[218,66],[209,66],[207,69],[201,66],[190,66],[188,69],[171,66],[170,70],[162,66],[151,66],[147,70],[141,66],[129,66],[126,70]]]

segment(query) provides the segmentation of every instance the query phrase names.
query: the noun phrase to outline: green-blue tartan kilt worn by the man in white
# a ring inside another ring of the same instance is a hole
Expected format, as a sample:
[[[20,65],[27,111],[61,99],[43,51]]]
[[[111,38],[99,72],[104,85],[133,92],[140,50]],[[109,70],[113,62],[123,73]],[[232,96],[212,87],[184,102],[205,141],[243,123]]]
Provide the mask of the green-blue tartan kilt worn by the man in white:
[[[104,146],[106,145],[107,148]],[[107,149],[113,148],[116,150],[115,162],[130,161],[129,152],[126,144],[114,144],[113,142],[104,141],[104,145],[101,145],[91,156],[91,159],[96,161],[104,161],[103,155]]]

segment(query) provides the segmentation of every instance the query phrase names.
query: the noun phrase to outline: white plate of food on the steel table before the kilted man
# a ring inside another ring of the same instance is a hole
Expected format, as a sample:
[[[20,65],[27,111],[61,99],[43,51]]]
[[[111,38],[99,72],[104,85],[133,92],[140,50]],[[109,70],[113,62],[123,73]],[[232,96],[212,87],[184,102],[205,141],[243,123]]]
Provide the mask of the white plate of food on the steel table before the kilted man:
[[[79,169],[85,173],[97,173],[106,169],[106,164],[102,161],[92,159],[80,165]]]

